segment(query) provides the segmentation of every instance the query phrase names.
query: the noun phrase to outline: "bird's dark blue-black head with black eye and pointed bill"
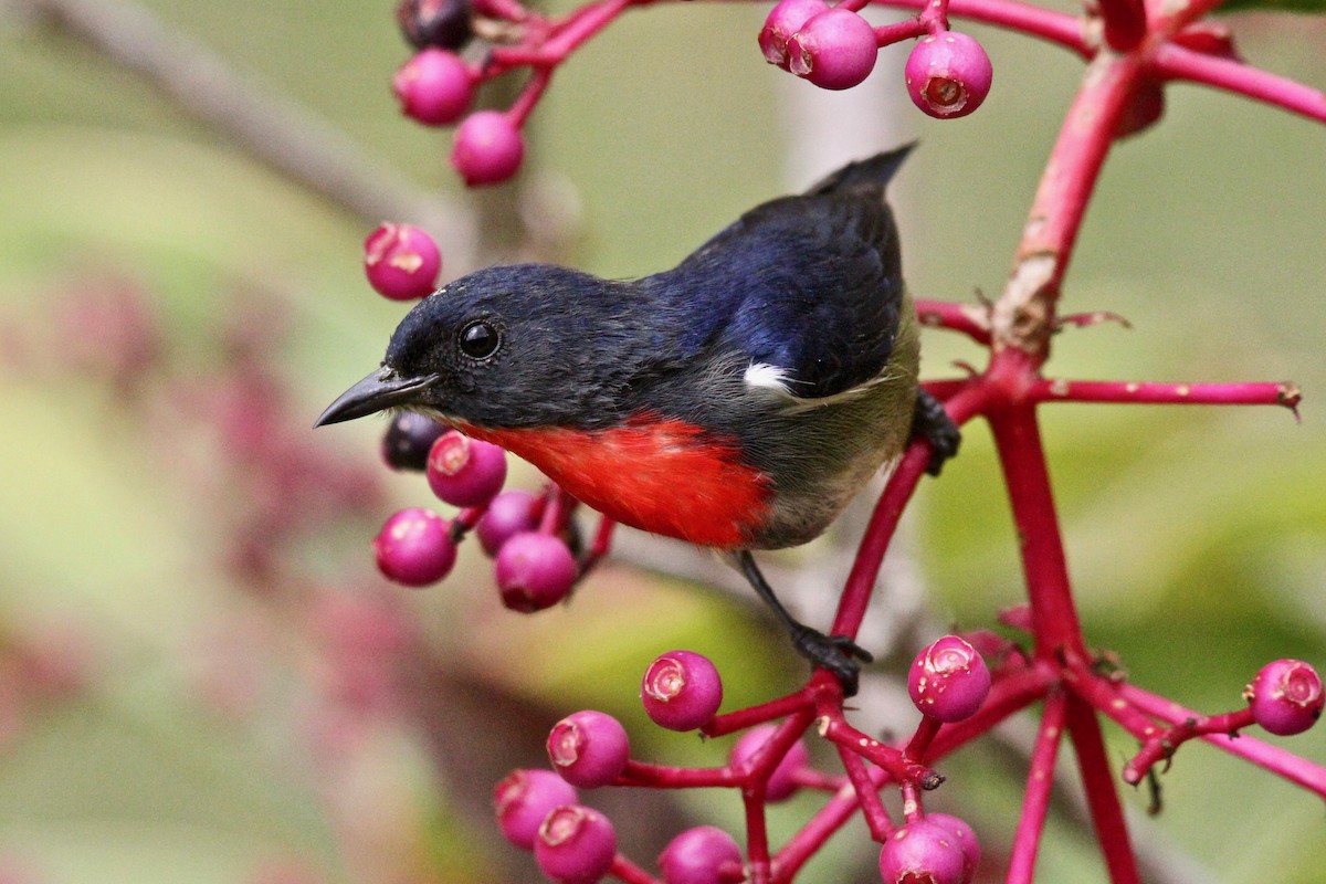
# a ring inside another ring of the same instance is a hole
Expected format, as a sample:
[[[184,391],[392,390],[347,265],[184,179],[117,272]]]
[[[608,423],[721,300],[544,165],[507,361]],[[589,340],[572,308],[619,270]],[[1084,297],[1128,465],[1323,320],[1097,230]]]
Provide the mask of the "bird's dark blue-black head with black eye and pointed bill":
[[[545,264],[471,273],[420,301],[382,367],[318,423],[403,407],[481,427],[582,424],[639,349],[647,310],[633,296],[631,284]]]

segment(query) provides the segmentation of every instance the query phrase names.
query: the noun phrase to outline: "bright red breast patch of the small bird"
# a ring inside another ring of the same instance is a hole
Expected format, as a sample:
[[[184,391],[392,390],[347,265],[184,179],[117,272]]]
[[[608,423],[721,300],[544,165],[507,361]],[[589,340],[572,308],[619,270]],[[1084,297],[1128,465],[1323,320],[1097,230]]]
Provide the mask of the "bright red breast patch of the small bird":
[[[769,512],[769,477],[735,443],[683,420],[636,415],[622,427],[578,431],[461,429],[538,467],[605,516],[701,546],[739,549]]]

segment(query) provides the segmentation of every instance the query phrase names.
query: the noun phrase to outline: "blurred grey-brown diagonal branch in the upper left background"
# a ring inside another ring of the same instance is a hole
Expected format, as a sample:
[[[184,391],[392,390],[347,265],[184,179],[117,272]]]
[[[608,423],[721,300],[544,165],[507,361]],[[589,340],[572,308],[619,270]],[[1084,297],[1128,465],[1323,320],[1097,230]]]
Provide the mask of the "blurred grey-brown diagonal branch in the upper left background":
[[[369,224],[412,221],[447,243],[452,270],[475,266],[479,244],[463,204],[411,183],[329,121],[263,89],[142,7],[125,0],[15,0],[13,8],[133,70],[180,113],[289,180]]]

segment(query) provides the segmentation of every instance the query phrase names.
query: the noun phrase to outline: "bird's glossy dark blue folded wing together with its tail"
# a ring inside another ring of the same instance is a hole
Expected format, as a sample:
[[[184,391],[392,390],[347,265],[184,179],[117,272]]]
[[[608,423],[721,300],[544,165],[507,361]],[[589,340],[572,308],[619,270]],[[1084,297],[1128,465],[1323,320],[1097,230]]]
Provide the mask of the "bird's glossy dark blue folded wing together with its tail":
[[[879,375],[903,300],[898,232],[883,186],[900,158],[849,166],[801,196],[747,212],[656,277],[693,310],[686,350],[745,354],[752,383],[802,399]],[[874,163],[874,171],[871,164]]]

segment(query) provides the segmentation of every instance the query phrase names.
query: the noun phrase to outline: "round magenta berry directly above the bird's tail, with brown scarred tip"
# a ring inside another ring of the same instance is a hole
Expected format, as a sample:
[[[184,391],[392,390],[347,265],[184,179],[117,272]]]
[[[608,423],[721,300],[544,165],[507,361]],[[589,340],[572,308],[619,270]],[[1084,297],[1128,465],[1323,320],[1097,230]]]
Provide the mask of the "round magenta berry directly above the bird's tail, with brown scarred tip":
[[[931,117],[965,117],[989,94],[994,68],[981,44],[945,30],[922,37],[903,70],[912,103]]]

